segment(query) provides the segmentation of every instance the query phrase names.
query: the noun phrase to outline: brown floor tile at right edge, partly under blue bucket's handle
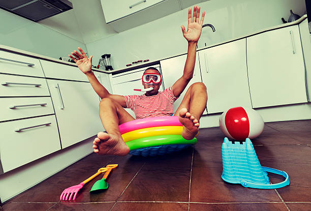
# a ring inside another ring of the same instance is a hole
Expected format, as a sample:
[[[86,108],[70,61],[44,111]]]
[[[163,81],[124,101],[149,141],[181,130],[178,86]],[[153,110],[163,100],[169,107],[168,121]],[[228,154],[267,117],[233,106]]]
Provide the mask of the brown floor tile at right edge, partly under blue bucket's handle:
[[[277,189],[284,201],[307,201],[311,198],[311,147],[306,145],[256,146],[256,153],[262,166],[285,171],[290,185]],[[269,174],[271,183],[285,178]]]

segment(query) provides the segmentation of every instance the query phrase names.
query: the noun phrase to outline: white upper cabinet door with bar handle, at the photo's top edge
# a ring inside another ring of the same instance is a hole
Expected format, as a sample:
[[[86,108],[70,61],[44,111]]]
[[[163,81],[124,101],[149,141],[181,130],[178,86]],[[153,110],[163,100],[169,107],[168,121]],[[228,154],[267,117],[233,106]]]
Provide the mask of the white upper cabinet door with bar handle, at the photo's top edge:
[[[106,23],[148,8],[162,0],[101,0]]]

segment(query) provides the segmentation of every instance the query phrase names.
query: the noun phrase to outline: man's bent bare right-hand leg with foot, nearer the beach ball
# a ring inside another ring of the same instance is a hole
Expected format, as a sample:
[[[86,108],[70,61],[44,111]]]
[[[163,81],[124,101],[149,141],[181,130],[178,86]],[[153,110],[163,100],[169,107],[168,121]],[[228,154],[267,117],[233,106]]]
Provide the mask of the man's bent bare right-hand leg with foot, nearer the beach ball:
[[[199,120],[206,108],[206,86],[202,82],[192,84],[184,95],[175,116],[183,125],[182,137],[193,139],[199,130]]]

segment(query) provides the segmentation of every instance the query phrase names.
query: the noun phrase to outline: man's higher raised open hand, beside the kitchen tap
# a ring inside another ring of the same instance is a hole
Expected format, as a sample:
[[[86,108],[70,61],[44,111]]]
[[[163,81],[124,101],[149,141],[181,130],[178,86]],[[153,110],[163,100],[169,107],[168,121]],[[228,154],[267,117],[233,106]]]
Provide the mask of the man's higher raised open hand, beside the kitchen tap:
[[[193,9],[193,17],[191,15],[191,8],[188,10],[188,29],[187,31],[185,30],[184,25],[181,25],[181,30],[183,37],[188,41],[188,42],[198,42],[201,32],[202,32],[202,25],[203,25],[203,20],[205,16],[205,11],[202,13],[201,21],[199,22],[200,19],[200,7],[195,6]]]

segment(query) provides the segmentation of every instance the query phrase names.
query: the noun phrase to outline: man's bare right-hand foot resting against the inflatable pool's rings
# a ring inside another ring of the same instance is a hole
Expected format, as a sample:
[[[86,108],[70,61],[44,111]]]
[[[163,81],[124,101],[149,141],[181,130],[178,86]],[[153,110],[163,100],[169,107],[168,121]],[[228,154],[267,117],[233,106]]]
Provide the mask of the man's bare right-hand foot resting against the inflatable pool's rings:
[[[183,125],[182,137],[191,140],[199,131],[199,121],[186,108],[182,108],[178,113],[179,122]]]

